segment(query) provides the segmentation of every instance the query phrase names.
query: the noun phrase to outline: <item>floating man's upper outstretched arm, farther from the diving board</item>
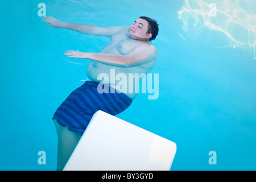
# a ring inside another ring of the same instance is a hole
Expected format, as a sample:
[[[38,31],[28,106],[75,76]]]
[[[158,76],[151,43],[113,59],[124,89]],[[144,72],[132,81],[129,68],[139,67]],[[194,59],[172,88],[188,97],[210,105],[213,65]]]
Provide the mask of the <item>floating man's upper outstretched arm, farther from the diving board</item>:
[[[98,36],[112,36],[116,32],[125,28],[125,26],[115,26],[115,27],[98,27],[92,24],[76,24],[61,22],[53,18],[52,16],[46,16],[42,18],[43,22],[47,22],[48,26],[55,28],[67,28],[69,30],[77,31],[82,34],[98,35]]]

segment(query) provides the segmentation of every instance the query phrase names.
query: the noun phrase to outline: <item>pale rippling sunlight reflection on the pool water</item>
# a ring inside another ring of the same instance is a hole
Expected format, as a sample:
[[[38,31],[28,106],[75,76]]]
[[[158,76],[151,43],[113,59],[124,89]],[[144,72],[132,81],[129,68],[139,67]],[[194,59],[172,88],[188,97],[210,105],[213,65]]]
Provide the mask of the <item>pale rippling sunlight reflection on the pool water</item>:
[[[178,18],[188,38],[203,36],[207,43],[215,42],[218,47],[249,47],[251,57],[256,59],[254,6],[254,0],[185,0]]]

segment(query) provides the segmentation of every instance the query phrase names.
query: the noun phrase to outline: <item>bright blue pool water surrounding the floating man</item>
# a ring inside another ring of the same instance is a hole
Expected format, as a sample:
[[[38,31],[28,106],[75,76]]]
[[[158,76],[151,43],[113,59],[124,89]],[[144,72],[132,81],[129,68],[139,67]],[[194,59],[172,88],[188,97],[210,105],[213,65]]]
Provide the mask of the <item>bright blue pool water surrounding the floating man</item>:
[[[148,94],[139,94],[117,117],[175,142],[172,170],[256,169],[255,31],[241,27],[255,26],[242,14],[245,10],[255,18],[255,2],[234,6],[238,13],[233,16],[241,21],[221,32],[192,26],[196,16],[191,10],[200,7],[195,1],[180,19],[178,12],[188,7],[185,1],[1,0],[1,170],[56,169],[57,135],[51,118],[82,84],[88,64],[73,64],[63,53],[98,52],[109,43],[108,38],[47,26],[38,16],[41,2],[46,15],[71,23],[130,26],[139,16],[158,20],[153,43],[159,59],[151,73],[159,73],[159,97],[148,100]],[[216,3],[222,11],[228,6]],[[224,28],[222,16],[218,11],[218,21],[210,18]],[[197,14],[197,20],[202,17]],[[184,22],[192,25],[186,29]],[[193,32],[198,36],[192,37]],[[39,151],[46,152],[46,164],[38,163]],[[216,152],[217,164],[209,164],[210,151]]]

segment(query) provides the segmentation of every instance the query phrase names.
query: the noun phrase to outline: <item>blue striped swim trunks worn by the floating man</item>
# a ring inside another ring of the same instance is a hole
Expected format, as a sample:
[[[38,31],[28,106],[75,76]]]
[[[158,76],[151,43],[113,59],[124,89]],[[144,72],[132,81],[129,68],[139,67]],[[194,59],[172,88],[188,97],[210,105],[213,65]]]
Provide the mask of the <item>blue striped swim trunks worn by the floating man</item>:
[[[123,93],[103,85],[102,90],[109,92],[99,93],[98,82],[85,81],[83,85],[74,90],[68,98],[59,106],[52,119],[61,126],[67,126],[71,131],[84,133],[93,114],[98,110],[116,115],[126,110],[133,100]]]

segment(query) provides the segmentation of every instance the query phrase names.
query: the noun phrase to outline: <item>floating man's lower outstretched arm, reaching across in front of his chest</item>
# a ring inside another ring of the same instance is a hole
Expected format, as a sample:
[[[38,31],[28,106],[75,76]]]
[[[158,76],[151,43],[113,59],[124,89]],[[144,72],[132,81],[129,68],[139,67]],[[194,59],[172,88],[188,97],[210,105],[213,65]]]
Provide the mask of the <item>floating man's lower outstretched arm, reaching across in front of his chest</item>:
[[[150,61],[151,56],[155,54],[155,48],[151,45],[138,46],[134,51],[127,55],[111,55],[105,53],[92,53],[80,51],[66,51],[65,56],[81,59],[91,59],[99,63],[114,65],[117,67],[133,67]]]

